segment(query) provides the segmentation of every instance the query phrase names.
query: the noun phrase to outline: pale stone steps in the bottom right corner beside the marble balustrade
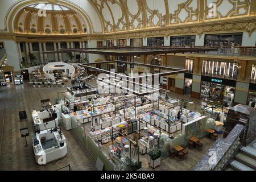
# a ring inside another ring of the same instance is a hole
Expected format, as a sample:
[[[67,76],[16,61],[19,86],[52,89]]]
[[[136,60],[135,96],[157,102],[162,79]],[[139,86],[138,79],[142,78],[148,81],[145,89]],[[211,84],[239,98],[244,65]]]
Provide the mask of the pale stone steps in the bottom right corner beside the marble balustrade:
[[[242,147],[227,171],[255,171],[256,170],[256,140],[247,147]]]

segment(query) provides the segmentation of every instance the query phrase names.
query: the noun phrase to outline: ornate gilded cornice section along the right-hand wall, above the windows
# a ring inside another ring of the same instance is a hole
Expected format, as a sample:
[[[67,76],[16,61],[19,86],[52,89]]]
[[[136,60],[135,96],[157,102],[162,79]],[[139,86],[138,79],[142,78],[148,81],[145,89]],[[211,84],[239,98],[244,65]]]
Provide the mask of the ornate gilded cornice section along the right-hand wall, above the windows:
[[[256,16],[246,18],[225,19],[212,22],[188,23],[177,26],[147,28],[144,30],[115,32],[106,34],[108,39],[122,38],[146,38],[148,36],[171,36],[171,35],[188,35],[212,34],[218,32],[236,32],[247,31],[249,36],[256,29]]]

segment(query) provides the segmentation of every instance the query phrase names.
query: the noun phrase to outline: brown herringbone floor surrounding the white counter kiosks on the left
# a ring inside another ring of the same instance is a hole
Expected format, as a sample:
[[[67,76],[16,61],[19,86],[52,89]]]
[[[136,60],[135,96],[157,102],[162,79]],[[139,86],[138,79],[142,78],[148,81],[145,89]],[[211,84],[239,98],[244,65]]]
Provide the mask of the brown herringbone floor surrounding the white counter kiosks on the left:
[[[72,170],[94,170],[95,161],[73,131],[63,134],[67,138],[68,154],[65,158],[39,166],[35,162],[32,148],[32,110],[42,109],[40,100],[49,98],[55,102],[58,92],[65,92],[62,87],[32,88],[28,84],[0,87],[0,170],[57,170],[71,165]],[[19,122],[20,110],[26,110],[28,121]],[[19,129],[28,127],[30,136],[20,137]]]

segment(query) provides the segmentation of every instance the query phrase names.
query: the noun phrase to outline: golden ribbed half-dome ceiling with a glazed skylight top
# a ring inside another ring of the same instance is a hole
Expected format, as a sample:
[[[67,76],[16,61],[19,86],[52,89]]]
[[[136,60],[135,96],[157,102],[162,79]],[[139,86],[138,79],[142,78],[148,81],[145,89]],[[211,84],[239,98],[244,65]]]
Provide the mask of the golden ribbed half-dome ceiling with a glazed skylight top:
[[[87,34],[87,27],[81,14],[51,3],[37,3],[23,8],[16,15],[14,23],[14,31],[19,34]]]

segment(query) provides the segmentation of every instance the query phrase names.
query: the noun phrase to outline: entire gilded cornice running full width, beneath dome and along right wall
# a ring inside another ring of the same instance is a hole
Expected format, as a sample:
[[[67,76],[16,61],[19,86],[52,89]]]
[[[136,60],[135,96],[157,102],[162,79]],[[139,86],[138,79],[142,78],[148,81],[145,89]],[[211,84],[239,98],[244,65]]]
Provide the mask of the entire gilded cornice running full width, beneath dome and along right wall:
[[[60,40],[115,40],[130,38],[147,38],[150,36],[174,36],[174,35],[203,35],[225,32],[248,32],[249,36],[256,30],[256,16],[246,18],[236,18],[218,20],[214,22],[189,23],[177,26],[147,28],[135,31],[115,32],[109,34],[88,34],[88,35],[33,35],[33,34],[10,34],[0,33],[1,40],[16,40],[38,42],[42,39],[60,41]]]

